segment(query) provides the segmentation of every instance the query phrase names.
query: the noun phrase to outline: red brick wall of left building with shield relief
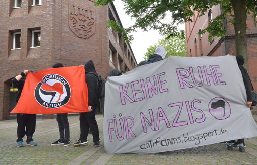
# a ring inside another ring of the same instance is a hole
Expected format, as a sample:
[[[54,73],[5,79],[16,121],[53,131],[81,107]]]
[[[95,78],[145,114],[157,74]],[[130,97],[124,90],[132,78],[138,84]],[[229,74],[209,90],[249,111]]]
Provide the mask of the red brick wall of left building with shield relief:
[[[107,75],[111,69],[108,53],[111,39],[106,28],[108,6],[94,6],[93,0],[44,0],[40,6],[31,6],[31,0],[23,0],[22,8],[13,9],[10,2],[0,1],[0,69],[3,72],[0,76],[0,120],[9,118],[10,87],[5,82],[24,69],[38,71],[56,62],[78,66],[93,60],[97,72],[103,77]],[[72,32],[69,26],[71,4],[92,10],[95,32],[91,37],[81,38]],[[41,47],[30,48],[31,30],[38,28],[41,29]],[[21,31],[21,49],[11,50],[12,32],[17,30]],[[123,48],[119,49],[119,54],[123,56]]]

